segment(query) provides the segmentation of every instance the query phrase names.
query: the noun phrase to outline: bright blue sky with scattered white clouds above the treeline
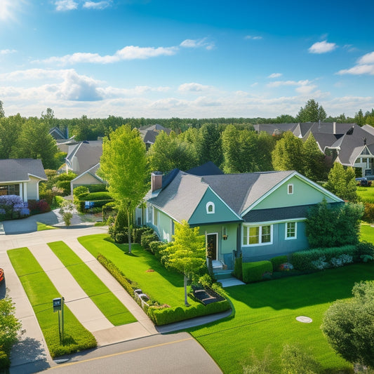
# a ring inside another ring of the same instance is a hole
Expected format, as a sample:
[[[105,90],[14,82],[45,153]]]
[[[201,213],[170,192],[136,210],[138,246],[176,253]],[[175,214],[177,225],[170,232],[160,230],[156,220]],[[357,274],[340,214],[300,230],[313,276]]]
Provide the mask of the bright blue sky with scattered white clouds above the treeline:
[[[374,107],[374,4],[0,0],[6,115],[274,117]]]

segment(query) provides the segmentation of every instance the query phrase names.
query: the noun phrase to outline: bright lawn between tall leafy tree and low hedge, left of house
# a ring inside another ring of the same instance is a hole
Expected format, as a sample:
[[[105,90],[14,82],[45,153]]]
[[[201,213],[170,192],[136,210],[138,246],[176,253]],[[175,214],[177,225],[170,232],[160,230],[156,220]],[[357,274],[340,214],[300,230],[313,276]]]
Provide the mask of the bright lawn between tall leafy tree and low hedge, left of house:
[[[107,234],[81,236],[78,240],[93,256],[97,257],[101,253],[114,262],[152,300],[171,307],[184,305],[182,274],[169,272],[152,253],[142,249],[139,244],[131,246],[132,254],[129,255],[128,244],[113,243]],[[149,272],[149,269],[154,271]],[[195,305],[196,302],[189,299],[189,304]]]

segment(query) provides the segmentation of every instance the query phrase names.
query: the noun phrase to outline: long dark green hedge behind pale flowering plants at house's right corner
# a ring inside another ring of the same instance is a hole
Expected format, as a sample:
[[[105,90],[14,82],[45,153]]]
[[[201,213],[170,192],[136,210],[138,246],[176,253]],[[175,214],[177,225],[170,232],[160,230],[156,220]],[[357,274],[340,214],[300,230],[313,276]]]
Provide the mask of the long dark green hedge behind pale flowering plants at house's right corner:
[[[307,251],[294,252],[292,254],[291,263],[302,272],[315,269],[312,265],[313,261],[318,261],[324,258],[324,262],[331,262],[331,259],[337,258],[340,255],[351,255],[354,259],[357,258],[357,247],[354,245],[331,247],[331,248],[313,248]]]

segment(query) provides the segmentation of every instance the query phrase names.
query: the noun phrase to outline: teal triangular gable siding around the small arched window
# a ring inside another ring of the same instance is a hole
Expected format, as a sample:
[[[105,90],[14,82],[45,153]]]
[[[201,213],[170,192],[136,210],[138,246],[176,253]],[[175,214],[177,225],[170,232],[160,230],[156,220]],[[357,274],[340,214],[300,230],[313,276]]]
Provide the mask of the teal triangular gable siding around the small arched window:
[[[208,202],[214,203],[215,213],[208,214],[206,212],[206,203]],[[209,224],[230,221],[239,221],[239,218],[209,187],[191,218],[189,218],[188,223],[189,225],[201,225],[201,223]]]

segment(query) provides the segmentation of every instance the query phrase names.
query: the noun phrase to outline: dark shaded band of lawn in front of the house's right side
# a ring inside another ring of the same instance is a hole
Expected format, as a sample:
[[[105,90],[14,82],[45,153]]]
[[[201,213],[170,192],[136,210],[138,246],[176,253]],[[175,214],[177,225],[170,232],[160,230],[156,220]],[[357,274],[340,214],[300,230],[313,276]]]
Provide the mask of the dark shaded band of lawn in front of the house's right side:
[[[355,282],[374,280],[373,264],[356,264],[313,274],[234,286],[229,298],[251,308],[299,309],[352,297]]]

